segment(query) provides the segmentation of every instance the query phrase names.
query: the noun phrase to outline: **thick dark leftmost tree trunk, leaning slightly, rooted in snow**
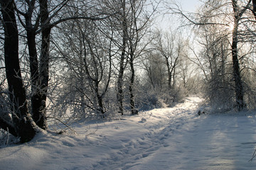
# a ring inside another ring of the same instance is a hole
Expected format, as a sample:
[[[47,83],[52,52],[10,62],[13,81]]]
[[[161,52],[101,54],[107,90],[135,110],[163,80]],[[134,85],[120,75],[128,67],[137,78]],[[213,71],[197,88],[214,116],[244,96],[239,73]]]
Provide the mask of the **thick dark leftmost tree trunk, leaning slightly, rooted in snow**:
[[[1,0],[1,13],[4,21],[4,60],[6,77],[9,85],[11,112],[16,135],[21,142],[28,142],[36,135],[31,117],[28,114],[26,91],[21,79],[18,60],[18,29],[14,13],[13,0]],[[15,135],[15,134],[14,134]]]

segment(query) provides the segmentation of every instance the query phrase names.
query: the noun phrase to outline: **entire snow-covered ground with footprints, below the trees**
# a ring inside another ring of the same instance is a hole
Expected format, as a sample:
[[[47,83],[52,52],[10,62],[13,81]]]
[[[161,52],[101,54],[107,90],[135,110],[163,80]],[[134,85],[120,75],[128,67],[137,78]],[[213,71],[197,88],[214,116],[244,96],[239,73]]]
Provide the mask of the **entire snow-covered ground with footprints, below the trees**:
[[[78,135],[41,132],[0,149],[0,169],[256,169],[253,113],[198,116],[198,97],[112,121],[77,123]]]

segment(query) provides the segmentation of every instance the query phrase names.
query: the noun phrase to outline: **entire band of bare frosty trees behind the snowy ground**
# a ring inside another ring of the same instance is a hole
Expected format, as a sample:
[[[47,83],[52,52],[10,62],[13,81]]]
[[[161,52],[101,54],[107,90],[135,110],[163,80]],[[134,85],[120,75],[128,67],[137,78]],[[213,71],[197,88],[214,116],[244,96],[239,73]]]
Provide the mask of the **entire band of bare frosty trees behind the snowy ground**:
[[[252,1],[208,0],[193,14],[146,0],[0,4],[0,128],[21,142],[48,120],[136,115],[189,94],[255,108]],[[156,26],[163,6],[194,39]]]

